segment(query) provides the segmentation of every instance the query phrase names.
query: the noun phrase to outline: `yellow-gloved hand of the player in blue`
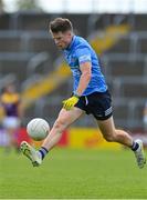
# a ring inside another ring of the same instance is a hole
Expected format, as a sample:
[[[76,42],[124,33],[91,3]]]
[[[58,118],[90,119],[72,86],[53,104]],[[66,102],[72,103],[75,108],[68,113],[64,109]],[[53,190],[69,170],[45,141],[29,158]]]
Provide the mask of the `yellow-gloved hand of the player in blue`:
[[[71,110],[77,103],[78,100],[80,100],[80,98],[75,97],[75,96],[66,99],[66,100],[62,101],[63,108],[65,110]]]

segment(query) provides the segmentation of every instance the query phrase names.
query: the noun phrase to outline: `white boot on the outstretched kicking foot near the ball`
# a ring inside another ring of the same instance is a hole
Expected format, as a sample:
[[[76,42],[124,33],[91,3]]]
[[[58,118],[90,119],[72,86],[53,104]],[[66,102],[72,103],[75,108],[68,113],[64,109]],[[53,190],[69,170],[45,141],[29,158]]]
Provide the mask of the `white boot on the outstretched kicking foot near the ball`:
[[[39,167],[42,163],[41,153],[31,147],[27,141],[21,142],[20,150],[31,160],[33,167]]]

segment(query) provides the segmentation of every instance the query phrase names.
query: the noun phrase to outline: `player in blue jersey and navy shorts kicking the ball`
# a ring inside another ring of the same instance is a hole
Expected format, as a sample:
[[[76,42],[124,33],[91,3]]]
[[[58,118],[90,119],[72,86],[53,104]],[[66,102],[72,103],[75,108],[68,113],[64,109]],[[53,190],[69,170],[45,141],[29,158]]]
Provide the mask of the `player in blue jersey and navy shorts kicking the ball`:
[[[48,152],[60,141],[62,132],[86,113],[96,119],[106,141],[118,142],[130,148],[138,167],[144,168],[146,159],[143,141],[139,139],[134,141],[127,132],[115,128],[112,98],[93,48],[85,39],[74,34],[69,19],[56,18],[50,22],[49,29],[55,46],[63,51],[72,71],[73,94],[63,101],[63,108],[40,150],[36,151],[23,141],[21,143],[23,154],[33,166],[40,166]]]

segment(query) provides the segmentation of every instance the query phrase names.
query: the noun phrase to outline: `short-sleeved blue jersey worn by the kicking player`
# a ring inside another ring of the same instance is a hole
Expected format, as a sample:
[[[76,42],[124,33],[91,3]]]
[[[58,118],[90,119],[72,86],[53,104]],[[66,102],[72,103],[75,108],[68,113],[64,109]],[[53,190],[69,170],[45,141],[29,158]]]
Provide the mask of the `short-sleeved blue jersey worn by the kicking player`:
[[[71,44],[64,50],[64,57],[73,73],[73,92],[76,91],[82,74],[80,64],[84,62],[92,63],[92,78],[82,96],[87,96],[96,91],[105,92],[107,90],[104,76],[101,72],[98,58],[86,40],[74,36]]]

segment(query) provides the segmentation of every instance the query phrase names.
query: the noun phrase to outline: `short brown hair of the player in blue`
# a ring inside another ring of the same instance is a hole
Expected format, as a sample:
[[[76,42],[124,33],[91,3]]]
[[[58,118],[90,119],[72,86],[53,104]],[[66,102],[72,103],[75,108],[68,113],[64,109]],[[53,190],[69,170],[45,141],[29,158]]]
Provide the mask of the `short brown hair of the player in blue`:
[[[72,22],[65,18],[55,18],[50,22],[49,28],[54,33],[73,30]]]

